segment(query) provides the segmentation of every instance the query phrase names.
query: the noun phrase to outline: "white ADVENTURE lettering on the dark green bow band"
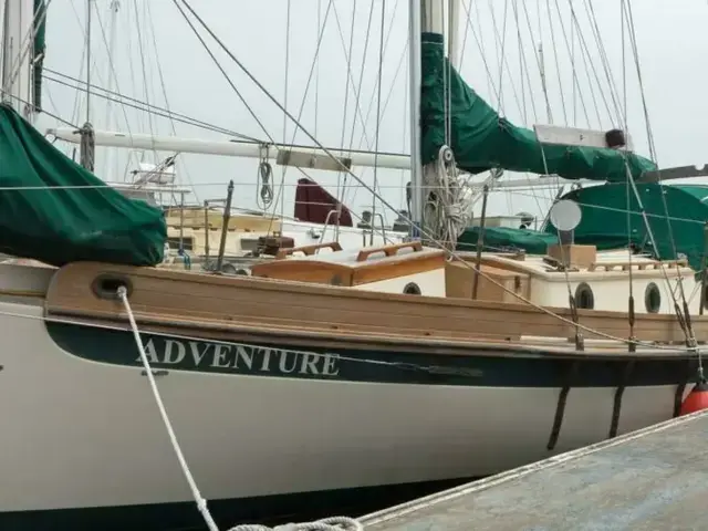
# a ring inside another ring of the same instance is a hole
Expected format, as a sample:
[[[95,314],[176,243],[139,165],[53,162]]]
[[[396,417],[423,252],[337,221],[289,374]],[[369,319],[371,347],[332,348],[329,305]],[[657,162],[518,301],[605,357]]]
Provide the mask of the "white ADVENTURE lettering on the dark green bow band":
[[[144,346],[150,364],[175,368],[320,377],[335,377],[340,373],[339,354],[155,337]],[[136,362],[142,363],[139,355]]]

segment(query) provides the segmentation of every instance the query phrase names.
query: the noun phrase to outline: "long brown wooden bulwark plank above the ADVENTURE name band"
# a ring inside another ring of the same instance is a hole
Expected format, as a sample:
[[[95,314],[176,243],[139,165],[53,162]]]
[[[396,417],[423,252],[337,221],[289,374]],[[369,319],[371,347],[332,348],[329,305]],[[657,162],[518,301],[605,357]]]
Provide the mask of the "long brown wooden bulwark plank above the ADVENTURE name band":
[[[54,274],[46,294],[46,313],[124,322],[119,301],[100,299],[92,291],[92,283],[100,275],[129,281],[131,304],[138,322],[163,323],[167,329],[180,322],[194,333],[200,330],[226,333],[235,326],[249,326],[263,333],[298,331],[312,336],[336,333],[460,345],[483,339],[510,346],[518,344],[522,335],[571,337],[574,334],[572,324],[523,303],[376,293],[95,262],[72,263]],[[568,309],[552,311],[568,320],[571,317]],[[590,329],[615,337],[628,336],[624,312],[579,310],[577,313],[580,323]],[[708,339],[708,319],[694,317],[694,330],[698,341]],[[684,340],[674,315],[637,315],[635,335],[642,341]],[[586,336],[593,334],[586,333]]]

